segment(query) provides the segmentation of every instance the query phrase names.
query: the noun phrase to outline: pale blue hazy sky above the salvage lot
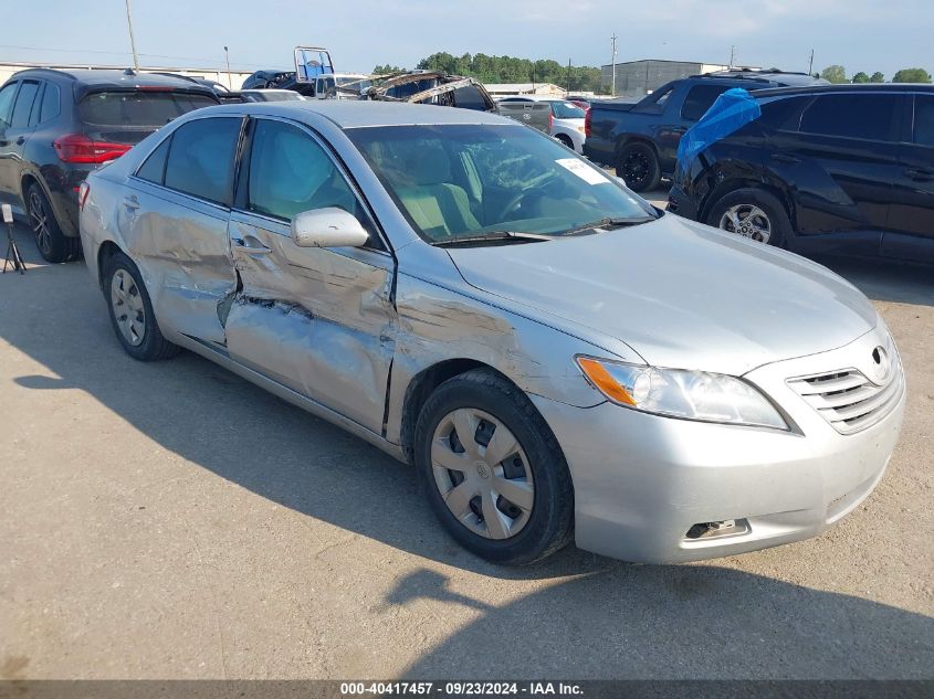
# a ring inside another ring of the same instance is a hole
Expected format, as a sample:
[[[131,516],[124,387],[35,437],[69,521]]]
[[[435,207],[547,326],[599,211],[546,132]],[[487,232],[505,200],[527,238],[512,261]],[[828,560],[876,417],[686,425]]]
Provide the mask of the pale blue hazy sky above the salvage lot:
[[[297,44],[337,71],[413,67],[437,51],[562,64],[669,59],[847,74],[934,72],[930,0],[132,0],[144,66],[288,67]],[[132,65],[125,0],[3,0],[0,61]],[[11,18],[15,18],[11,21]],[[735,47],[735,49],[733,49]]]

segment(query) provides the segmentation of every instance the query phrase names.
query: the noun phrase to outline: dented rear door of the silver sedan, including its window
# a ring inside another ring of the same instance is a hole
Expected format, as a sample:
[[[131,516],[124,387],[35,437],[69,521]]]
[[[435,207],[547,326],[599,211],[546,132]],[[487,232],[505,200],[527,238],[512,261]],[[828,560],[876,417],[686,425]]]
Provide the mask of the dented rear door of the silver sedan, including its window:
[[[119,229],[169,330],[223,345],[219,308],[237,288],[228,243],[242,117],[196,119],[130,178]]]

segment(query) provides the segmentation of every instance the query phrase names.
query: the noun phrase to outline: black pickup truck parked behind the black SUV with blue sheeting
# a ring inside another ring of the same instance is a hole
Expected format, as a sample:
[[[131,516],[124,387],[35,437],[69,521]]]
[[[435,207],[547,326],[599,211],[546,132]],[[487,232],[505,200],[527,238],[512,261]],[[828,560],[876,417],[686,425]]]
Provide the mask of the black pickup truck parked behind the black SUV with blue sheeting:
[[[753,91],[821,83],[827,81],[807,73],[720,71],[672,81],[641,100],[595,100],[587,113],[584,155],[615,166],[631,190],[651,190],[674,172],[682,134],[722,93],[732,87]]]

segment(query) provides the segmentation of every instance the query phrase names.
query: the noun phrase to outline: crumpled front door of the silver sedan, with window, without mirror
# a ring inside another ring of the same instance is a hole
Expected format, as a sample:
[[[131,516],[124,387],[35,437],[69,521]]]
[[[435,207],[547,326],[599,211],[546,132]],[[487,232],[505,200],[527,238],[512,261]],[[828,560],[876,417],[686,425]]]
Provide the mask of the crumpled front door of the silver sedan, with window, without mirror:
[[[304,127],[251,121],[230,242],[239,290],[224,318],[232,359],[382,432],[392,361],[395,264],[355,187]],[[369,246],[300,247],[291,220],[339,206]]]

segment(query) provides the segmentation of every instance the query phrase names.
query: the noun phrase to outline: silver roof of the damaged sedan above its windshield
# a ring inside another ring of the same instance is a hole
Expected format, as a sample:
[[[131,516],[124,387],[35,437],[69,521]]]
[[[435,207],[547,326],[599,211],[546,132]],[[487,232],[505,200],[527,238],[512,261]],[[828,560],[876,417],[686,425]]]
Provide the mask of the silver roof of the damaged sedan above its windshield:
[[[499,124],[524,127],[513,119],[489,112],[458,109],[434,105],[417,105],[405,102],[382,102],[379,99],[307,99],[304,102],[264,102],[251,104],[231,104],[218,107],[204,107],[197,114],[255,114],[280,116],[296,120],[307,120],[317,115],[328,119],[342,129],[368,126],[426,126],[442,124]],[[193,113],[192,113],[193,114]]]

